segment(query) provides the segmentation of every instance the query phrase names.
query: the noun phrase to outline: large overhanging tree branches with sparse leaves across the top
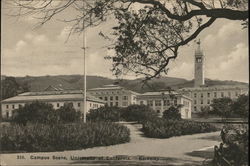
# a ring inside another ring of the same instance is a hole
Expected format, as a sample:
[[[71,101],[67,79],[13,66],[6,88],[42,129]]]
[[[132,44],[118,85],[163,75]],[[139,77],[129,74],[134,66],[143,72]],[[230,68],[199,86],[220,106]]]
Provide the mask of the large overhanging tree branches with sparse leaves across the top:
[[[20,8],[13,15],[35,15],[39,25],[73,8],[76,15],[69,20],[70,34],[115,17],[118,25],[112,35],[100,35],[114,41],[116,52],[113,72],[120,75],[135,72],[146,80],[167,74],[170,60],[178,56],[179,48],[194,40],[216,19],[243,21],[248,26],[247,0],[14,0]],[[83,24],[84,23],[84,24]],[[114,40],[113,40],[114,39]]]

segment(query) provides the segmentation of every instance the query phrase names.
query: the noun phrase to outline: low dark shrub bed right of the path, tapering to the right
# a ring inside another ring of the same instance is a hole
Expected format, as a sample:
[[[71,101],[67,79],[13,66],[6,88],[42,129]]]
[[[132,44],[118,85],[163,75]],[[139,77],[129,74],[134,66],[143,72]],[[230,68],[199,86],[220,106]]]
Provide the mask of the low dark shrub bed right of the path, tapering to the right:
[[[212,132],[216,131],[216,128],[203,122],[157,118],[144,122],[142,131],[147,137],[169,138],[180,135]]]

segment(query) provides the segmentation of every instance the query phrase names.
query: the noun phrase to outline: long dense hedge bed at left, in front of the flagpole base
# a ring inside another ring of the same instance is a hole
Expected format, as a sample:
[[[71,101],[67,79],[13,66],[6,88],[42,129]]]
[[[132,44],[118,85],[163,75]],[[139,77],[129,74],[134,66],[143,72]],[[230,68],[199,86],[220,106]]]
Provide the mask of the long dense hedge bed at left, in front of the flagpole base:
[[[114,123],[27,124],[1,128],[2,151],[46,152],[77,150],[125,143],[127,127]]]

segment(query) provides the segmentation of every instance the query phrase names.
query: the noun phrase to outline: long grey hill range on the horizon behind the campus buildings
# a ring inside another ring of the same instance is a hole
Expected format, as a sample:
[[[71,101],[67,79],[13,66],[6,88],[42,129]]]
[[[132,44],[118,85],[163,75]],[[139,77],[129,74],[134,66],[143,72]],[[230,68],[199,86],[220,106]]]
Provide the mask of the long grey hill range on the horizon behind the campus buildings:
[[[5,78],[5,77],[3,77]],[[28,84],[31,91],[42,91],[48,86],[60,86],[63,89],[83,89],[83,76],[82,75],[58,75],[58,76],[26,76],[16,77],[19,84]],[[136,92],[157,91],[167,88],[184,88],[193,87],[193,80],[186,80],[175,77],[162,77],[148,81],[147,84],[142,82],[143,79],[134,80],[116,80],[105,78],[101,76],[87,76],[87,89],[100,87],[106,84],[119,84],[127,89]],[[237,81],[220,81],[206,79],[206,85],[248,85],[247,83]]]

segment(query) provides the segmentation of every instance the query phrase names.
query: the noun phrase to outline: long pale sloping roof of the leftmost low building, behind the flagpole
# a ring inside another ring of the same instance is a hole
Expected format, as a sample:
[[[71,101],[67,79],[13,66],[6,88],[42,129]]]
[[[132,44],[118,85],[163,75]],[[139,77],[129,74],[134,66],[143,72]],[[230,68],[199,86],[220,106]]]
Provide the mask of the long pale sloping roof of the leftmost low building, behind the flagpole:
[[[17,103],[30,101],[82,101],[84,99],[83,93],[78,91],[44,91],[44,92],[26,92],[18,96],[14,96],[2,101],[2,103]],[[105,101],[98,99],[87,93],[87,101],[98,103],[105,103]]]

